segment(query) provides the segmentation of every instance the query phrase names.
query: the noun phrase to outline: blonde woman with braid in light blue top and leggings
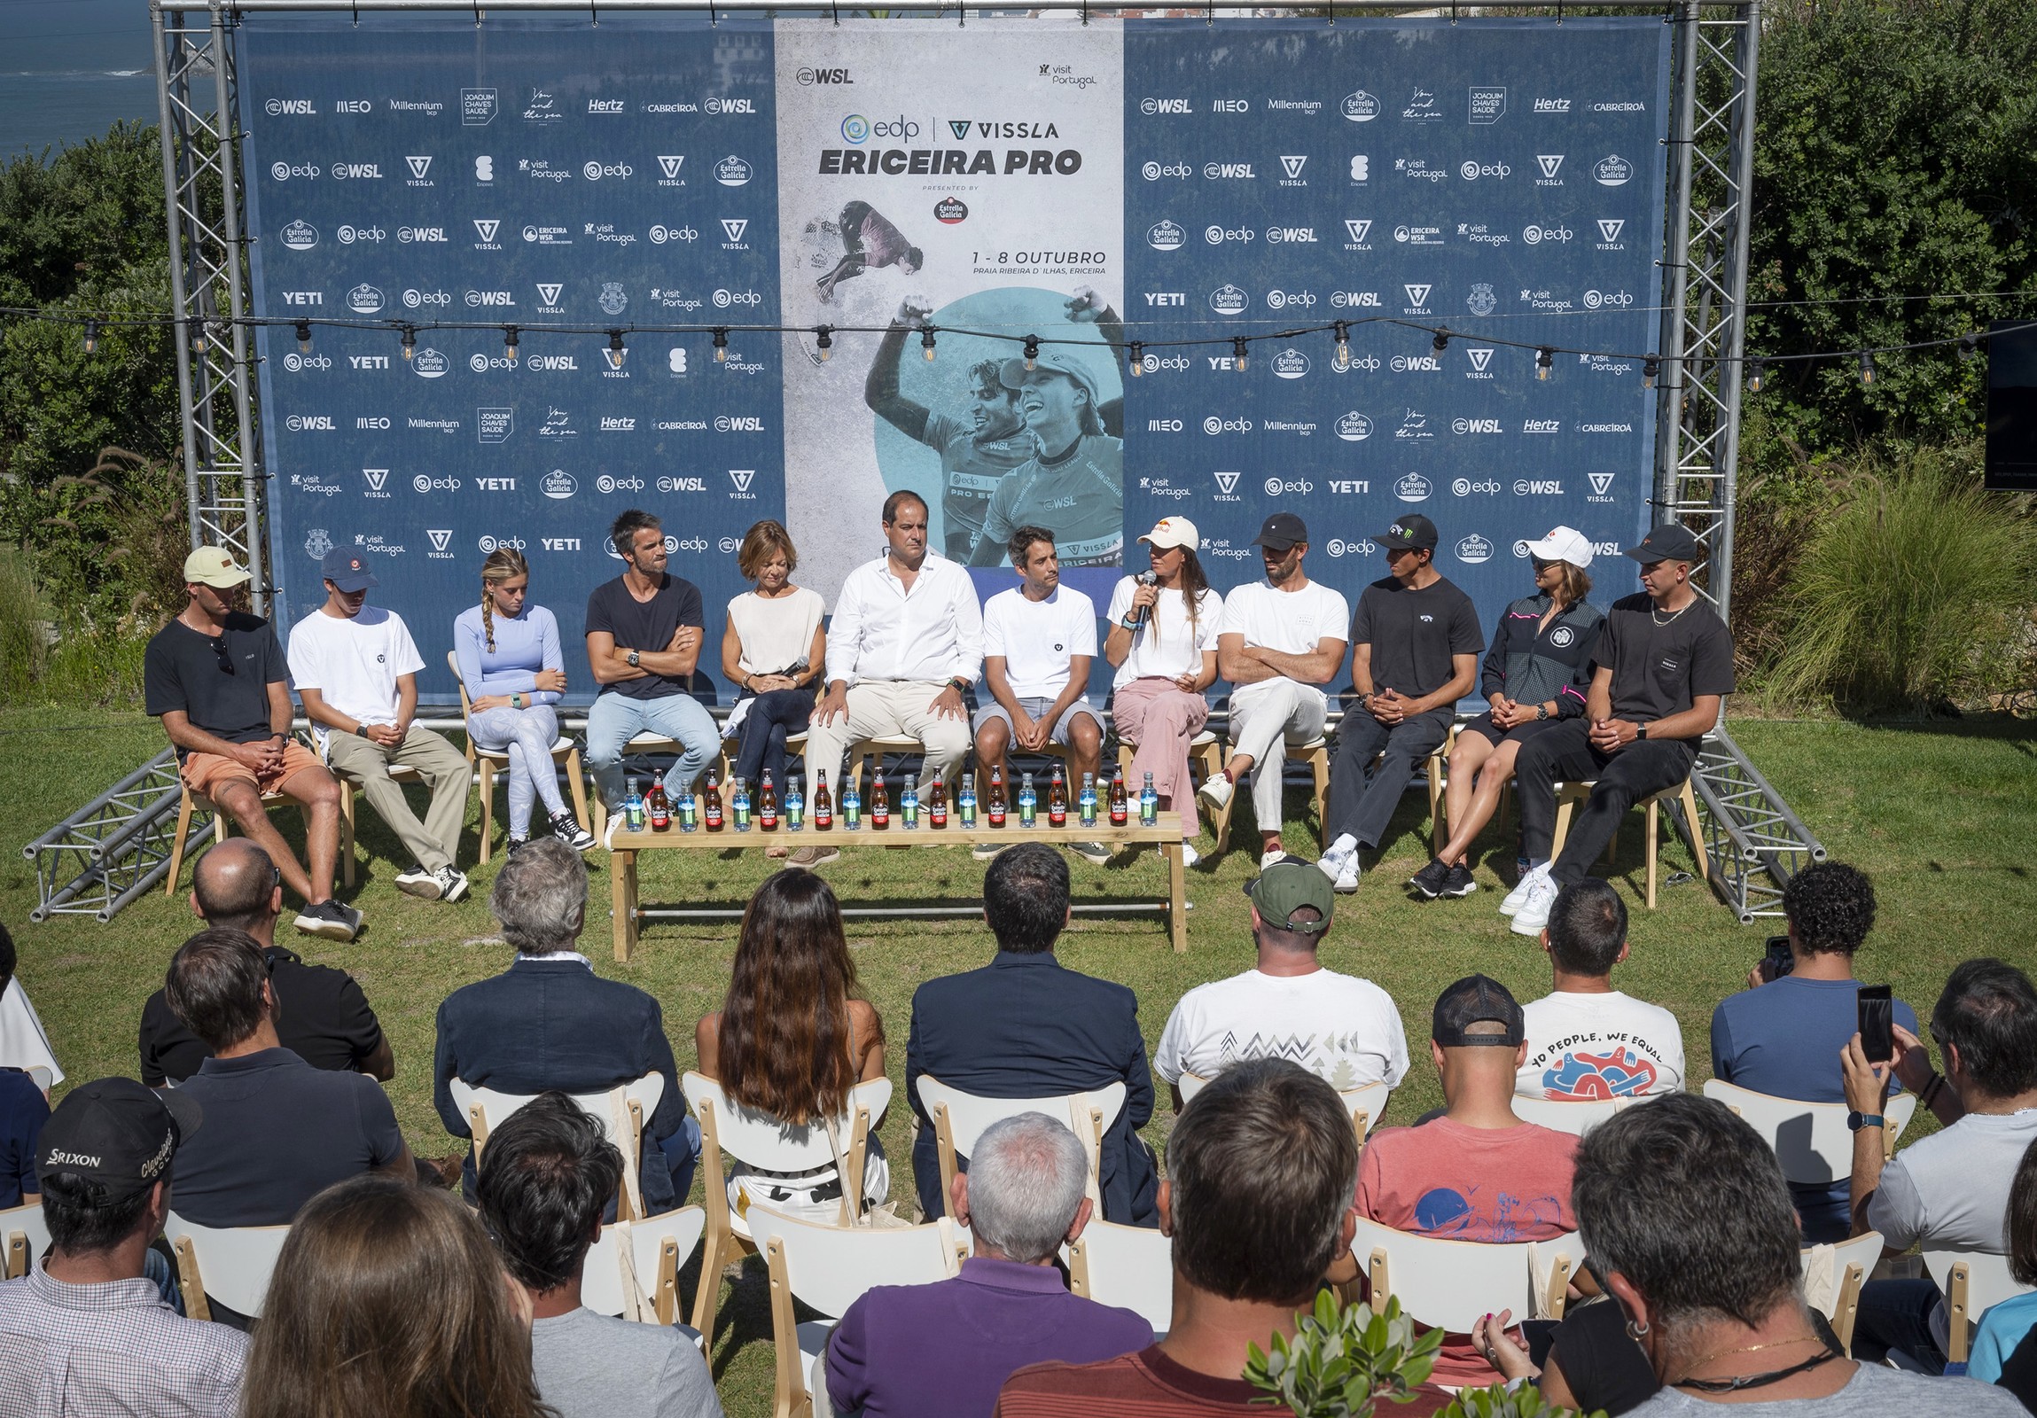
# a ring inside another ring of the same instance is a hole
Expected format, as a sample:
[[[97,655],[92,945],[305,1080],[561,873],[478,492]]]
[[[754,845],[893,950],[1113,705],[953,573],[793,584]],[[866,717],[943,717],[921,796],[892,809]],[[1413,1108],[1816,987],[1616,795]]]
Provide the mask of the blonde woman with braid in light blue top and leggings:
[[[481,605],[452,621],[460,656],[460,683],[473,701],[466,733],[475,748],[509,754],[509,850],[530,841],[530,809],[544,799],[552,835],[574,852],[595,846],[595,833],[574,821],[558,793],[552,744],[558,742],[556,705],[566,691],[558,650],[558,621],[530,605],[530,562],[503,546],[481,562]]]

